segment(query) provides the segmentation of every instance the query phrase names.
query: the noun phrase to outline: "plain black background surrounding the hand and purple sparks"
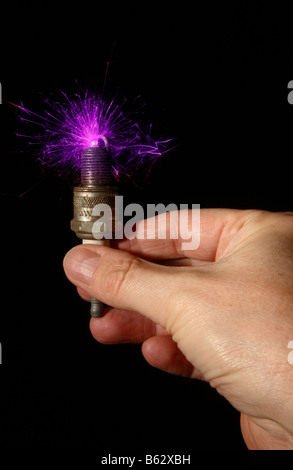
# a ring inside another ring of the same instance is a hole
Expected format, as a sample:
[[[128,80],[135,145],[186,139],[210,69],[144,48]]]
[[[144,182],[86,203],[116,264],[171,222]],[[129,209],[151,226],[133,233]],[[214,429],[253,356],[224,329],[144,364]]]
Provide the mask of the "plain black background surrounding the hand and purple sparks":
[[[75,80],[99,92],[110,61],[107,93],[142,95],[153,134],[177,144],[147,180],[123,183],[126,202],[292,210],[290,15],[218,3],[4,6],[3,100],[38,112],[41,95],[75,92]],[[62,269],[77,243],[72,181],[36,162],[6,102],[0,119],[3,449],[245,449],[238,413],[207,384],[152,369],[139,345],[91,337]]]

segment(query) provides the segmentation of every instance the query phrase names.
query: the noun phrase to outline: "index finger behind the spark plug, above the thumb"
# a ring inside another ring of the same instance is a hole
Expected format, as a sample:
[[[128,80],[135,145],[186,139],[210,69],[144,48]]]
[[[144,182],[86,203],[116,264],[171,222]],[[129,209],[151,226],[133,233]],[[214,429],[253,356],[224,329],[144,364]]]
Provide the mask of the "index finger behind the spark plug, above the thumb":
[[[180,213],[180,211],[174,212]],[[183,212],[186,213],[189,229],[191,229],[192,210],[181,211],[181,214],[178,215],[182,216]],[[185,257],[203,262],[212,262],[216,260],[224,227],[230,222],[237,221],[243,216],[243,213],[244,211],[234,209],[202,209],[200,211],[200,229],[199,234],[197,234],[200,237],[200,243],[196,249],[184,249],[186,240],[182,237],[180,230],[178,230],[177,238],[171,237],[171,224],[176,218],[172,219],[170,212],[142,220],[137,224],[136,234],[138,236],[133,239],[116,240],[113,246],[152,260]],[[177,217],[178,219],[179,217]],[[160,238],[162,235],[160,223],[166,223],[166,237],[164,239]],[[149,227],[151,227],[151,230]]]

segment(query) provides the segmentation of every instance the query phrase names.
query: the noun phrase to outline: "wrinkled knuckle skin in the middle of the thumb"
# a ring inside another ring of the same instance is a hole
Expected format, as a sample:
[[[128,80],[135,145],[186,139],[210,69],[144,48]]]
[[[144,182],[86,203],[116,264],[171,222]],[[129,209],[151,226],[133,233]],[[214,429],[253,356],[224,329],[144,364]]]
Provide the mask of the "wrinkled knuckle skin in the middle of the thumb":
[[[139,261],[131,255],[126,255],[103,276],[101,288],[107,296],[118,297],[131,284],[132,273]]]

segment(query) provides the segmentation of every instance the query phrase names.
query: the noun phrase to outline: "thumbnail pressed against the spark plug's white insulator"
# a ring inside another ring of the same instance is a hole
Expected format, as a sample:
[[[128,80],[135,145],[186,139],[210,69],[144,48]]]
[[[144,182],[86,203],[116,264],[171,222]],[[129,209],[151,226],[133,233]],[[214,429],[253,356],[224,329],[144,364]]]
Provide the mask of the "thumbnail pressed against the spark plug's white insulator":
[[[65,256],[64,269],[78,283],[89,285],[99,261],[100,256],[96,253],[85,248],[73,249]]]

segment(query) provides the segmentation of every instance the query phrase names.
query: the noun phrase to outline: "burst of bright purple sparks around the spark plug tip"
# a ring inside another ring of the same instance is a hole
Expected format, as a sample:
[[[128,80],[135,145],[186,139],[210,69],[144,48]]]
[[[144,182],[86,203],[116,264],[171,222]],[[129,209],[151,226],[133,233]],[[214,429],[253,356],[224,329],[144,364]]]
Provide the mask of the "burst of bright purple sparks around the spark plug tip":
[[[61,93],[62,101],[45,101],[47,109],[43,116],[23,105],[18,106],[30,116],[22,116],[22,121],[42,128],[34,137],[22,137],[40,146],[40,160],[56,167],[60,173],[73,170],[78,174],[81,152],[88,147],[109,150],[116,178],[121,173],[131,174],[144,163],[153,163],[169,150],[168,143],[172,139],[155,141],[150,132],[144,133],[130,115],[123,112],[125,102],[122,105],[115,104],[114,100],[106,103],[89,93],[70,99]]]

